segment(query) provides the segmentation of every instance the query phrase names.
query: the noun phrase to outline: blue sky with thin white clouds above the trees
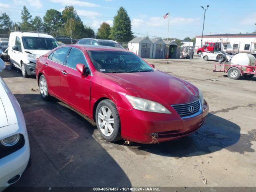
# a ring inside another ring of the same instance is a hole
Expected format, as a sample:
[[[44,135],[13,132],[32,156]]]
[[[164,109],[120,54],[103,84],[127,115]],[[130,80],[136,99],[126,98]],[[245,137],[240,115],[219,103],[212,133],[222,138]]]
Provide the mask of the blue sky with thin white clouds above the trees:
[[[102,22],[112,26],[118,8],[123,6],[132,21],[136,36],[167,37],[170,12],[169,38],[193,38],[202,34],[206,10],[204,34],[246,33],[256,31],[255,0],[0,0],[0,11],[11,20],[20,22],[20,11],[26,5],[34,16],[43,18],[46,10],[62,11],[73,5],[86,24],[97,31]]]

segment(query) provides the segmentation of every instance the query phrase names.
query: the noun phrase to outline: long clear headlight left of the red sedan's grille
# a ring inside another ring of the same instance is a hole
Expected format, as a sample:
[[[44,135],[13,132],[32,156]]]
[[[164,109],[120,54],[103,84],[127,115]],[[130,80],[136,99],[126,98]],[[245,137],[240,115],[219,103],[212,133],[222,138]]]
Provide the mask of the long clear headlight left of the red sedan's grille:
[[[130,95],[126,95],[126,98],[132,104],[134,109],[148,111],[148,112],[155,112],[155,113],[172,114],[168,109],[166,109],[164,106],[162,106],[157,102],[130,96]]]

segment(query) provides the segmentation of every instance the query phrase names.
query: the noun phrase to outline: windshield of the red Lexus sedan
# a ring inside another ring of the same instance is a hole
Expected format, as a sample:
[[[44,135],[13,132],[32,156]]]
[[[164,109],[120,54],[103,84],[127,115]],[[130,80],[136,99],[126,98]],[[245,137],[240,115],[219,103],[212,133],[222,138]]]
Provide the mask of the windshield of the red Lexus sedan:
[[[152,72],[144,60],[131,52],[87,51],[95,69],[102,73]]]

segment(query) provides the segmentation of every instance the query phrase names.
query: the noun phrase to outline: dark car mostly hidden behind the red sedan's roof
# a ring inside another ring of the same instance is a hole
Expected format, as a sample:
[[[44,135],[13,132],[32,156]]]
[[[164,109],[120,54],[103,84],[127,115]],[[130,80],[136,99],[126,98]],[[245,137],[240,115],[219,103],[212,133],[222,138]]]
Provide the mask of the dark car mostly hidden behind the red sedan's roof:
[[[92,39],[92,38],[83,38],[80,39],[76,44],[86,44],[86,45],[103,45],[110,47],[117,47],[124,49],[118,42],[105,39]]]

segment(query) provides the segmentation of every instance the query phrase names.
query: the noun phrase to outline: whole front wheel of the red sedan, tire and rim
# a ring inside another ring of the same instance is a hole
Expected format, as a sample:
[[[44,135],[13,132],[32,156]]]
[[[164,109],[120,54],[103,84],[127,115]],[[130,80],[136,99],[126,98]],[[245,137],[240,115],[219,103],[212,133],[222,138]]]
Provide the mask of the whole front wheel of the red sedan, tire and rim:
[[[120,117],[111,100],[102,100],[98,104],[95,117],[97,128],[105,140],[114,142],[121,139]]]

